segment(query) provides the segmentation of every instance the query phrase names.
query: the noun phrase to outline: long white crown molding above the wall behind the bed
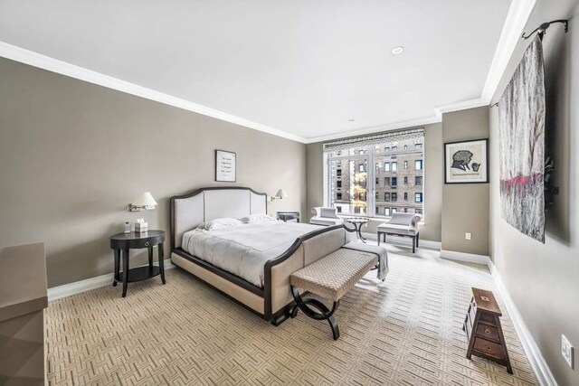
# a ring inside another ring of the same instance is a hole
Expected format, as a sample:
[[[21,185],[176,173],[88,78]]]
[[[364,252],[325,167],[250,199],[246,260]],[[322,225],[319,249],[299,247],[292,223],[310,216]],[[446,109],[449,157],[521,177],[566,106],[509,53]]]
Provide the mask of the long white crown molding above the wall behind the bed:
[[[52,71],[74,79],[84,80],[109,89],[116,89],[137,97],[154,100],[176,108],[183,108],[207,117],[221,119],[235,125],[249,127],[273,136],[283,137],[301,143],[305,143],[306,141],[305,138],[294,136],[293,134],[286,133],[273,127],[261,125],[260,123],[252,122],[245,118],[236,117],[214,108],[198,105],[185,99],[176,98],[154,89],[147,89],[146,87],[138,86],[137,84],[125,80],[119,80],[97,71],[87,70],[83,67],[67,63],[66,61],[59,61],[38,52],[25,50],[24,48],[17,47],[7,42],[0,41],[0,56],[12,61],[20,61],[21,63],[38,67],[46,71]]]

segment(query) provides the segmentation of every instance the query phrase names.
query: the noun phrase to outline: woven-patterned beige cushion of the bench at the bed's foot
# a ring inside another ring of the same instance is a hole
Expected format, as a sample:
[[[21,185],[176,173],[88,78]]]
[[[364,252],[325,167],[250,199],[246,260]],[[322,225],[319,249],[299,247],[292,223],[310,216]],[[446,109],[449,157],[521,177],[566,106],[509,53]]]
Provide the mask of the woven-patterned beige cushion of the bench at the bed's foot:
[[[337,301],[378,262],[374,253],[337,249],[291,274],[289,283],[319,297]]]

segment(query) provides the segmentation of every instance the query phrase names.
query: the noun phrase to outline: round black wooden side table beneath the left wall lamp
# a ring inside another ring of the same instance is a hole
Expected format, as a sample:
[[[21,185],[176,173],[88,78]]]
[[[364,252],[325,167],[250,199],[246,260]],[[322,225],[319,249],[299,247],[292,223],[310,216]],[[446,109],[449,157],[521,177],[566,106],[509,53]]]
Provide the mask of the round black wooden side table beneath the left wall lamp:
[[[113,287],[117,282],[123,283],[123,297],[127,296],[128,283],[146,280],[161,275],[161,282],[165,281],[165,268],[163,266],[164,252],[163,242],[165,241],[165,231],[147,231],[143,233],[130,232],[119,233],[110,237],[110,248],[114,250],[115,258],[115,278]],[[157,246],[158,266],[153,265],[153,247]],[[148,249],[148,266],[129,269],[129,249]],[[120,256],[122,252],[123,270],[119,272]]]

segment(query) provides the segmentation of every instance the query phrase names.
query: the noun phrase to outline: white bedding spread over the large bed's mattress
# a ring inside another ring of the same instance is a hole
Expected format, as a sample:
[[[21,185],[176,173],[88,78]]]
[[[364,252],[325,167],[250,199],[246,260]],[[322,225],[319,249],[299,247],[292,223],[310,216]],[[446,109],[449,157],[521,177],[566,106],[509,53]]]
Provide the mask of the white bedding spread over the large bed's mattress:
[[[298,222],[263,221],[217,231],[195,229],[185,232],[182,248],[263,287],[266,261],[280,256],[299,236],[319,228]]]

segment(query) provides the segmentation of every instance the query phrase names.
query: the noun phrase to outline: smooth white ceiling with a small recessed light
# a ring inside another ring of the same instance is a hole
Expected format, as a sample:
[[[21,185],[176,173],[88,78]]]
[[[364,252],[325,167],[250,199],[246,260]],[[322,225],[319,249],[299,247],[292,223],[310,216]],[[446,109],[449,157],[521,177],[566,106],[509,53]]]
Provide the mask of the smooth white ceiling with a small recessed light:
[[[509,5],[3,0],[0,41],[311,142],[479,99]]]

